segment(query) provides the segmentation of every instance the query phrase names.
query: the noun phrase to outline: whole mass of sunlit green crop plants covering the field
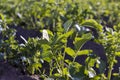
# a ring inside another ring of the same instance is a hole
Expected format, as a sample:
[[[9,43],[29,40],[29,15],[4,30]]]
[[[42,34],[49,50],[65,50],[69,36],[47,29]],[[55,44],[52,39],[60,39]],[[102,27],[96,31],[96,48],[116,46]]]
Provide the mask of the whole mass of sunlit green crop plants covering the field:
[[[120,57],[119,5],[118,0],[0,0],[0,60],[48,80],[110,80],[116,57]],[[25,43],[18,44],[10,26],[35,29],[42,37],[26,40],[21,36]],[[93,41],[105,49],[108,76],[104,61],[92,50],[81,50],[95,38],[91,28],[99,34]],[[74,48],[67,46],[69,38]],[[85,65],[76,62],[84,55]],[[113,76],[119,79],[118,73]]]

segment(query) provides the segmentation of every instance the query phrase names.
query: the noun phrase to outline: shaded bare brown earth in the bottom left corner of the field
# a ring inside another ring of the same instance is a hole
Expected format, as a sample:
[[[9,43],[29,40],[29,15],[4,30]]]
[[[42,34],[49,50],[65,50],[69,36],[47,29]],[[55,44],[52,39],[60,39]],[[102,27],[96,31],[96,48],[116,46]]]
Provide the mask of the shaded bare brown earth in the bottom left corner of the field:
[[[38,75],[23,75],[8,63],[0,62],[0,80],[40,80]]]

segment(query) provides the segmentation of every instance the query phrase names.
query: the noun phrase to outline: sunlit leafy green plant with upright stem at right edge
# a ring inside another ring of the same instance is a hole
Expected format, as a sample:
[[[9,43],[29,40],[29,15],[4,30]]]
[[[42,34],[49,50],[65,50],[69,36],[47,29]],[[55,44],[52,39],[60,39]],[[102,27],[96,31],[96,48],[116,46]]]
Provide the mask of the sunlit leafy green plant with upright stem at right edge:
[[[110,80],[112,75],[112,68],[116,63],[116,57],[119,56],[119,31],[115,31],[111,28],[106,28],[106,32],[102,33],[102,38],[99,42],[104,46],[106,51],[106,56],[109,64],[108,79]]]

